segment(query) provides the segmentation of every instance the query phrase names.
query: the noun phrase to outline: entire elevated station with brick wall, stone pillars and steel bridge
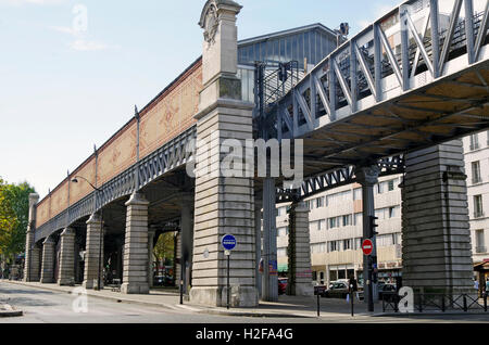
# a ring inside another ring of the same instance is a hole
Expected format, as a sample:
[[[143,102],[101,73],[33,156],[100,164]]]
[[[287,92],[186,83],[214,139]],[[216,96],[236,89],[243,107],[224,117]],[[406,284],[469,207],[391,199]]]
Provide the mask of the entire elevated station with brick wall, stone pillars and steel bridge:
[[[460,139],[489,127],[488,1],[406,1],[350,39],[313,24],[238,42],[240,10],[206,1],[202,56],[49,195],[30,195],[24,279],[100,288],[110,263],[122,292],[147,294],[154,243],[178,231],[185,293],[224,306],[221,239],[233,234],[231,305],[254,307],[277,299],[276,208],[290,203],[290,291],[310,295],[304,199],[360,183],[363,239],[375,243],[373,187],[402,173],[403,285],[471,291]],[[244,159],[222,171],[228,142],[256,139],[303,148],[299,186],[269,174],[272,157],[265,177]],[[375,296],[375,248],[364,263]]]

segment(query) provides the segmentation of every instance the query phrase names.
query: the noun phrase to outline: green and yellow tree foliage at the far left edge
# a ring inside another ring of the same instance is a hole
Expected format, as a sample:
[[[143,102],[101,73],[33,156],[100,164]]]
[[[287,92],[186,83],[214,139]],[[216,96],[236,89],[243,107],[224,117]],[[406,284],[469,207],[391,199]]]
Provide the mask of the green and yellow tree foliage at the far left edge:
[[[0,178],[0,254],[11,259],[25,250],[29,194],[34,192],[27,182],[12,184]]]

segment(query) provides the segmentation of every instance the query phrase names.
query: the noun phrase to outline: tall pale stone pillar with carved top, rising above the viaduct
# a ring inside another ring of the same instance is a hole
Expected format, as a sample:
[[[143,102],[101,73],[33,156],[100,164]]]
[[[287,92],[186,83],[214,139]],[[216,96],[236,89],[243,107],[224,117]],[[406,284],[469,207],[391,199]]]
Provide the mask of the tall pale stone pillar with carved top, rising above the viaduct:
[[[190,301],[210,306],[224,306],[227,301],[227,259],[221,246],[227,233],[237,239],[230,255],[231,305],[258,305],[253,173],[242,162],[242,148],[253,139],[253,104],[241,100],[241,82],[236,77],[236,15],[240,9],[230,0],[209,0],[200,21],[205,41],[203,90],[196,115],[198,148]],[[229,161],[233,165],[227,164]],[[222,169],[226,165],[229,169]]]

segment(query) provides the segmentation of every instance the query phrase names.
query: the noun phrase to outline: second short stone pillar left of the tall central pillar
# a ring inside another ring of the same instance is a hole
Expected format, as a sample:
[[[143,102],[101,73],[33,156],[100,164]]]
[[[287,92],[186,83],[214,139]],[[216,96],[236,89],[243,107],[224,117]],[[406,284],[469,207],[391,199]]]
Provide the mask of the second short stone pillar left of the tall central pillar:
[[[85,246],[85,269],[84,269],[84,282],[85,289],[93,289],[98,284],[99,267],[102,274],[103,265],[103,222],[98,214],[92,214],[87,220],[87,243]],[[102,239],[100,238],[102,237]],[[100,241],[102,242],[102,260],[100,256]],[[101,279],[101,289],[103,288],[103,279]]]

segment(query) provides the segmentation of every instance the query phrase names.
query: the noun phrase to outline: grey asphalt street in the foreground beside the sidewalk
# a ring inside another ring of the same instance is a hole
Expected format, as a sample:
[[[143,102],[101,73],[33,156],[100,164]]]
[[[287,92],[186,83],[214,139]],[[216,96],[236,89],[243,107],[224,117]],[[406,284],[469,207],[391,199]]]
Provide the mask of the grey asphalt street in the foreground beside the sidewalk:
[[[0,323],[446,323],[489,322],[488,315],[371,317],[338,314],[321,318],[237,317],[197,314],[179,306],[161,307],[45,291],[0,281],[0,304],[23,310],[22,317],[0,318]],[[86,305],[86,309],[84,306]],[[75,307],[74,307],[75,306]],[[86,312],[85,312],[86,311]]]

